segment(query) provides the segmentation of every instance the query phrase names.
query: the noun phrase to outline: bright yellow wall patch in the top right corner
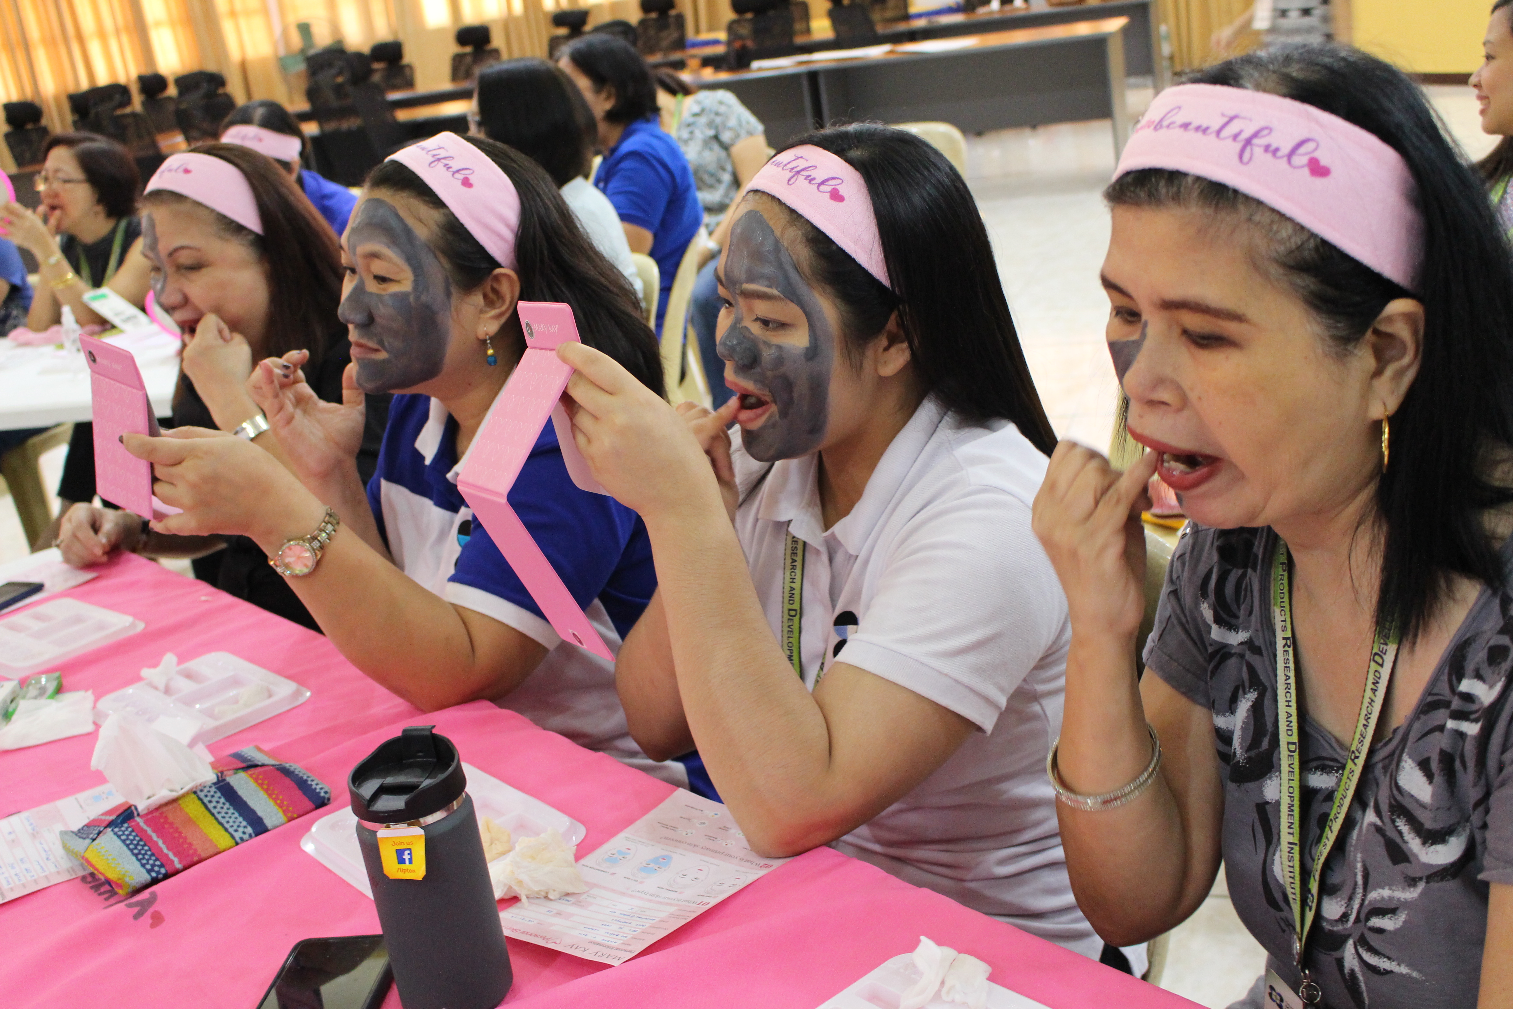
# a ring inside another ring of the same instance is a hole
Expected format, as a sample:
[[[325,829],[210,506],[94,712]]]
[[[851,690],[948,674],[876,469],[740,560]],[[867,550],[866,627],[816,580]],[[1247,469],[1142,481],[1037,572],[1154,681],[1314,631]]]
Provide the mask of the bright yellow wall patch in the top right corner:
[[[1409,73],[1469,74],[1492,0],[1351,0],[1354,42]]]

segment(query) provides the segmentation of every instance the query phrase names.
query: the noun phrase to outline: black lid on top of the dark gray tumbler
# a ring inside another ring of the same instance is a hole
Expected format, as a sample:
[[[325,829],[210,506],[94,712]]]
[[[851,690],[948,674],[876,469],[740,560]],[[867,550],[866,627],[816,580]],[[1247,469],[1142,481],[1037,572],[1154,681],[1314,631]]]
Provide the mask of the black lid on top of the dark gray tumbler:
[[[353,812],[369,823],[407,823],[461,797],[468,776],[457,747],[433,725],[405,726],[369,753],[348,778]]]

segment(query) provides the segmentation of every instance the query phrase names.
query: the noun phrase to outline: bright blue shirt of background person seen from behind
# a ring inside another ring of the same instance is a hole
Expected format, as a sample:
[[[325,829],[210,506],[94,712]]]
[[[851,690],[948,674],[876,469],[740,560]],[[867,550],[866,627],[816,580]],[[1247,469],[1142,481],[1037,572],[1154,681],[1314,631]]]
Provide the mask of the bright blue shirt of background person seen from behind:
[[[704,224],[704,207],[688,159],[652,115],[625,126],[619,142],[599,163],[593,185],[610,198],[622,222],[652,233],[651,256],[661,271],[661,298],[657,303],[657,336],[661,336],[672,278],[688,251],[688,242]]]

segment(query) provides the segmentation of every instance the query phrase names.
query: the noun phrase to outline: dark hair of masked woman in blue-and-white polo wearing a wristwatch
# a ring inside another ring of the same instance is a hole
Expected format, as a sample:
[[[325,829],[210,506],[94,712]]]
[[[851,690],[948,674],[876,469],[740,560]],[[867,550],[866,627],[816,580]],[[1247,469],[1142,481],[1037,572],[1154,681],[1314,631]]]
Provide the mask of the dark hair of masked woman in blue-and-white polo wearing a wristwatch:
[[[610,265],[583,233],[542,166],[496,141],[483,136],[463,139],[502,168],[520,195],[520,230],[514,239],[520,301],[563,301],[572,306],[584,343],[617,360],[658,396],[666,395],[661,351],[635,292],[625,274]],[[489,274],[499,269],[499,262],[405,165],[392,160],[378,165],[368,175],[368,192],[374,191],[396,192],[437,212],[433,248],[458,290],[477,290]],[[517,315],[511,313],[499,333],[514,340],[516,355],[525,351]]]

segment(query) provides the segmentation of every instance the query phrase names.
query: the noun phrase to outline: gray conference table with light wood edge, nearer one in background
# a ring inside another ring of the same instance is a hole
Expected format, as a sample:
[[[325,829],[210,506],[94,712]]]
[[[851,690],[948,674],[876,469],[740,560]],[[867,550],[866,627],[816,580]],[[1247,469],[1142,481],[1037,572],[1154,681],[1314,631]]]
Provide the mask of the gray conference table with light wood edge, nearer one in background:
[[[1109,120],[1115,154],[1129,136],[1124,30],[1129,18],[879,44],[850,53],[702,67],[701,88],[726,88],[775,147],[837,120],[938,120],[964,133]]]

